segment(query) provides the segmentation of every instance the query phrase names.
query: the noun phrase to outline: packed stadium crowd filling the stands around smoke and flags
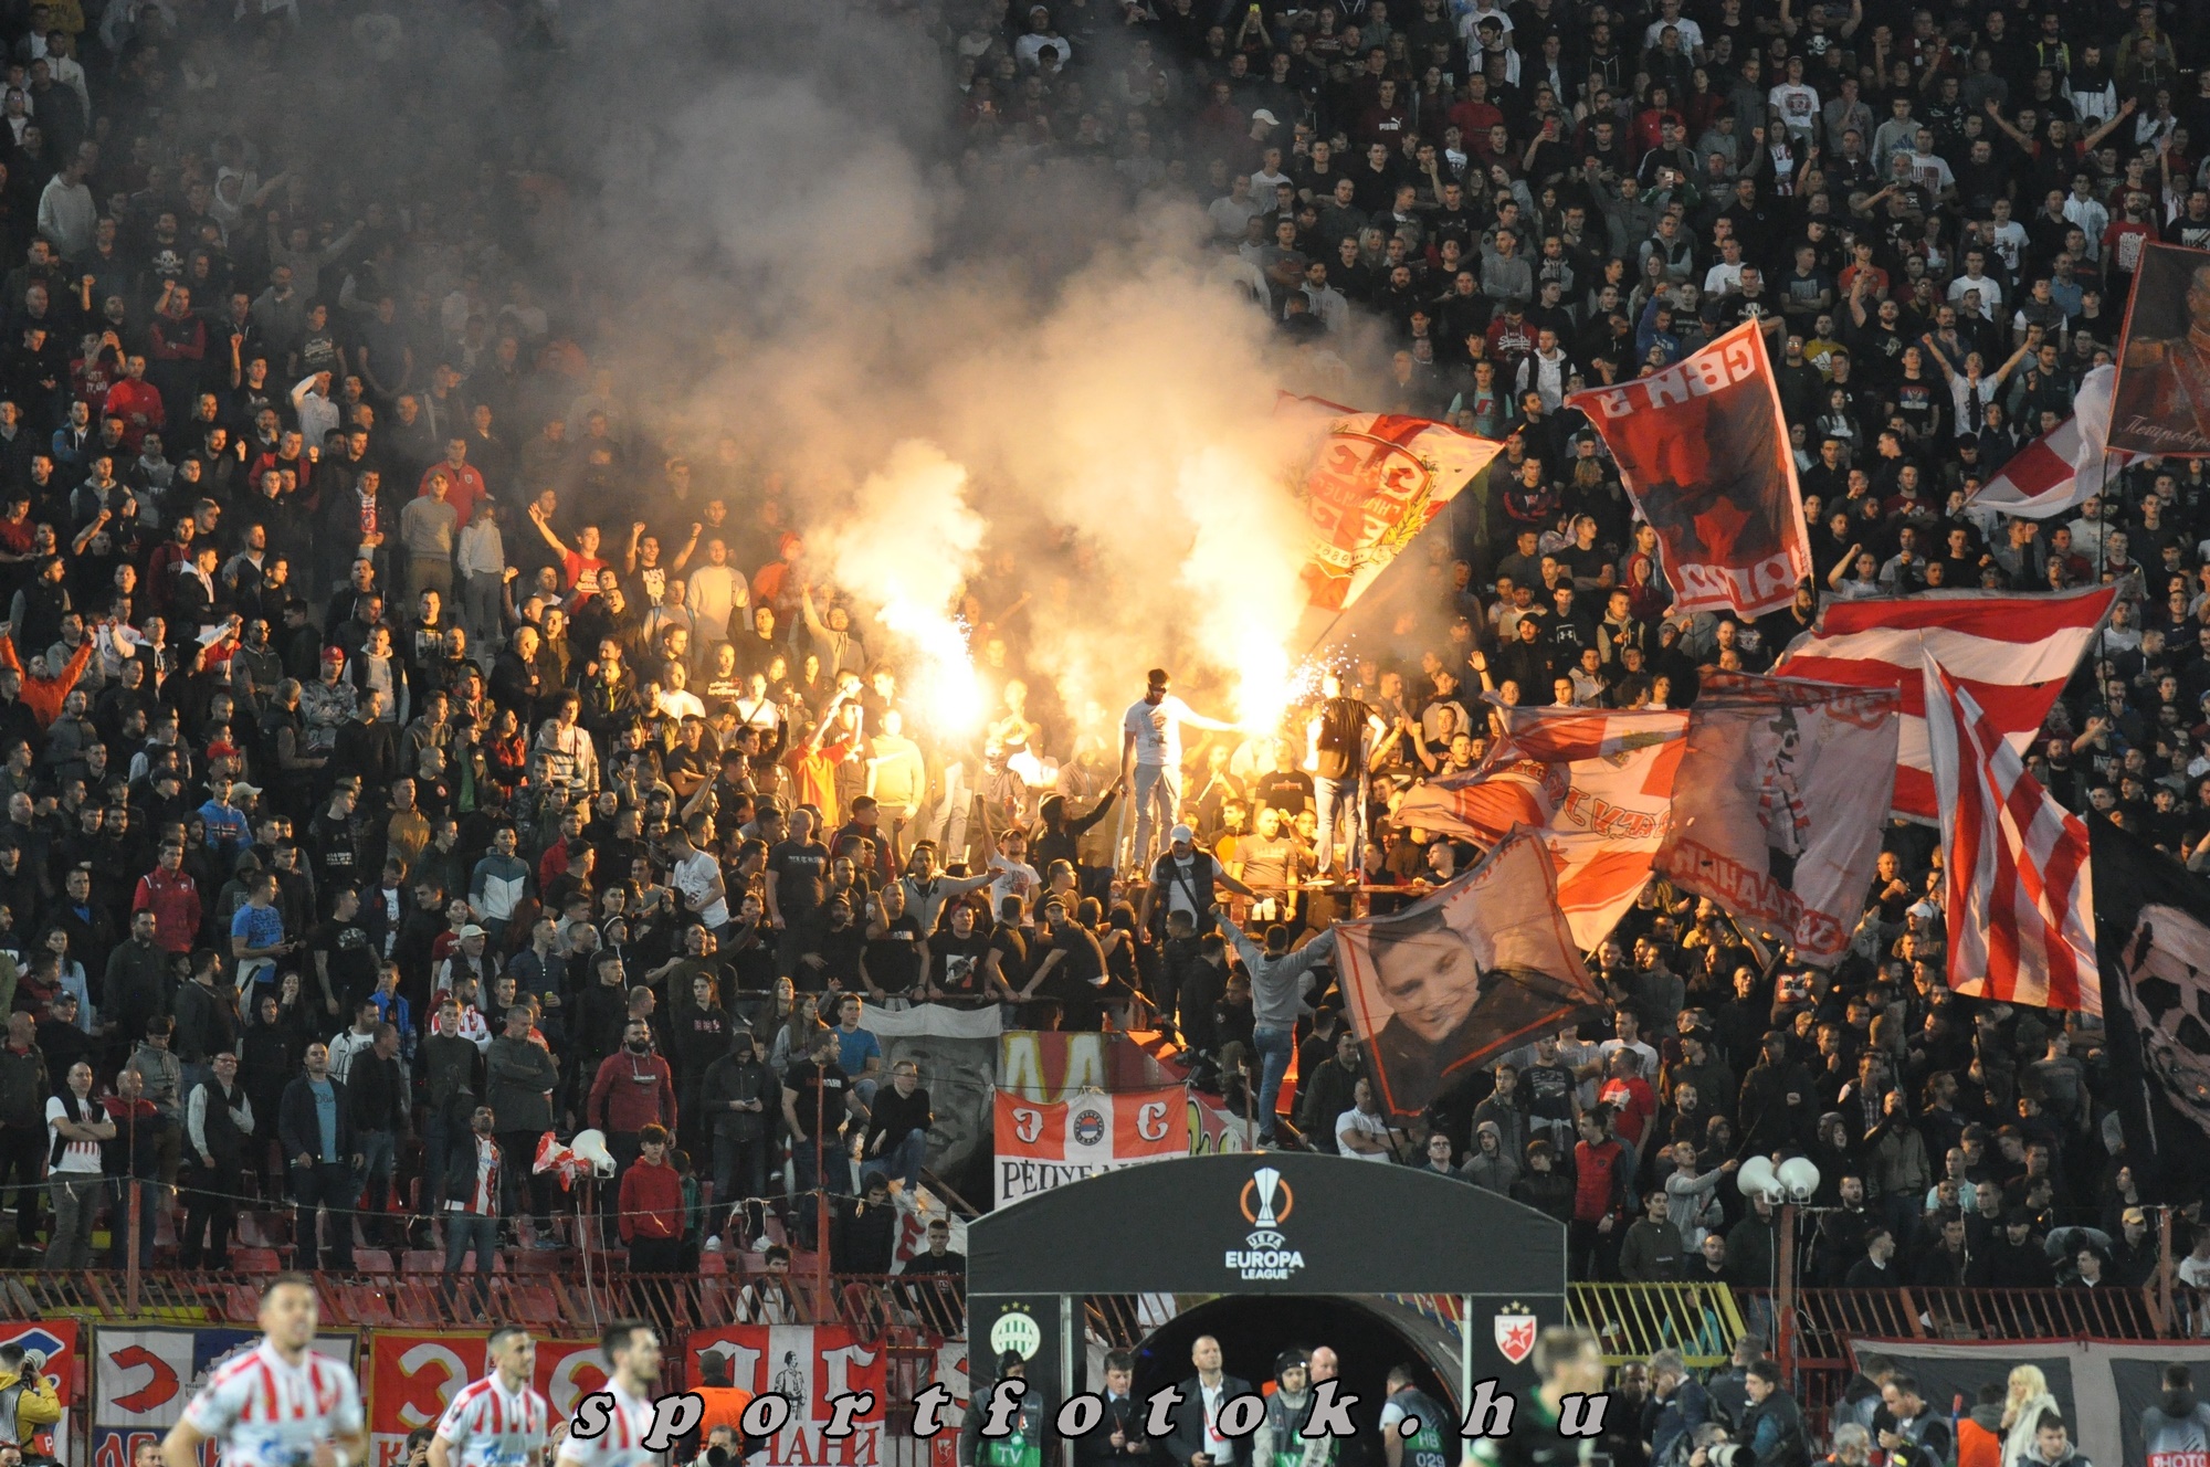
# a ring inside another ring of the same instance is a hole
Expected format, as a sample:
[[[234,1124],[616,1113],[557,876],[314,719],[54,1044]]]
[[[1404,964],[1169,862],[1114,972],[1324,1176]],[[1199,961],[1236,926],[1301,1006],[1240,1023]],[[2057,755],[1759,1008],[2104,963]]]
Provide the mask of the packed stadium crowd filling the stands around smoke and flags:
[[[2141,241],[2210,245],[2199,7],[860,4],[955,77],[928,141],[970,199],[1017,210],[1050,175],[1193,205],[1293,371],[1507,437],[1341,667],[1379,720],[1348,842],[1319,822],[1344,745],[1308,749],[1302,711],[1120,769],[1120,731],[1074,727],[1028,661],[1048,599],[1010,555],[966,599],[983,731],[924,727],[758,444],[670,437],[599,365],[617,314],[546,228],[588,163],[504,133],[497,91],[466,157],[409,150],[418,113],[351,150],[267,106],[398,88],[449,24],[550,55],[572,18],[0,9],[18,1257],[122,1262],[135,1195],[148,1264],[155,1213],[164,1262],[221,1268],[239,1206],[290,1200],[301,1268],[347,1268],[356,1215],[484,1266],[575,1244],[530,1162],[599,1129],[632,1266],[780,1231],[880,1273],[930,1102],[860,1019],[935,1001],[1156,1014],[1231,1109],[1260,1089],[1275,1144],[1518,1195],[1571,1224],[1576,1277],[1770,1286],[1770,1209],[1730,1173],[1801,1153],[1819,1284],[2150,1279],[2102,1036],[1949,992],[1929,829],[1885,833],[1834,972],[1653,884],[1596,954],[1611,1010],[1412,1131],[1375,1114],[1326,985],[1284,1003],[1282,946],[1353,886],[1386,906],[1472,859],[1388,811],[1478,764],[1483,692],[1682,707],[1823,601],[1927,588],[2117,583],[2033,771],[2210,864],[2203,462],[2137,462],[2055,524],[1967,506],[2115,351]],[[1562,398],[1753,318],[1817,574],[1759,623],[1669,614]],[[1308,753],[1337,760],[1319,784]],[[1282,932],[1229,941],[1191,870]],[[824,1171],[846,1155],[857,1189]],[[785,1160],[793,1193],[860,1193],[831,1239],[785,1206]],[[2179,1284],[2206,1288],[2203,1200],[2170,1202]]]

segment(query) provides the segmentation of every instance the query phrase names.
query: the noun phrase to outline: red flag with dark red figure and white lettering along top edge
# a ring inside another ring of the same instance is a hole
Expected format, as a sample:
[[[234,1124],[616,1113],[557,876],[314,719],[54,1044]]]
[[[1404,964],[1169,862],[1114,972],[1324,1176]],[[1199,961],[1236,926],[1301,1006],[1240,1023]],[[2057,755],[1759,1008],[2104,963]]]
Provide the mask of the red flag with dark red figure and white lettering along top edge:
[[[1664,371],[1567,404],[1602,433],[1658,530],[1677,610],[1764,616],[1795,601],[1810,539],[1779,378],[1755,320]]]

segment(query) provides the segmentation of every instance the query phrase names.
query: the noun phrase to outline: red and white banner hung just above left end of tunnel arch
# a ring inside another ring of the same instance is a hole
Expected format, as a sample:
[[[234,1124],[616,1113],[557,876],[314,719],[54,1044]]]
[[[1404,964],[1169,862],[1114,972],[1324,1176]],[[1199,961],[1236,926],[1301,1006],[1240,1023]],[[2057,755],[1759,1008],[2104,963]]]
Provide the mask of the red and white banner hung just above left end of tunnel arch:
[[[1019,1202],[1103,1171],[1189,1155],[1180,1085],[1023,1100],[997,1091],[997,1204]]]

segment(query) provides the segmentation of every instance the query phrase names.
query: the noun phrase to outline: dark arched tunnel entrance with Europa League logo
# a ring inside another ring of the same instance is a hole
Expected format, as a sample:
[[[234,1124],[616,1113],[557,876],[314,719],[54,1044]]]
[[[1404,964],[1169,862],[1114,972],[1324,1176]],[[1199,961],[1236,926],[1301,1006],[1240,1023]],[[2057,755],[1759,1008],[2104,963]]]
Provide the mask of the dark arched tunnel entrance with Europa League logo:
[[[1432,1171],[1295,1151],[1191,1155],[977,1217],[968,1288],[975,1392],[1008,1350],[1061,1399],[1094,1390],[1085,1301],[1145,1295],[1165,1323],[1140,1337],[1138,1392],[1187,1379],[1189,1345],[1207,1332],[1253,1385],[1273,1379],[1284,1348],[1330,1345],[1359,1394],[1353,1416],[1372,1425],[1399,1363],[1452,1405],[1487,1379],[1534,1385],[1536,1332],[1565,1323],[1565,1224]]]

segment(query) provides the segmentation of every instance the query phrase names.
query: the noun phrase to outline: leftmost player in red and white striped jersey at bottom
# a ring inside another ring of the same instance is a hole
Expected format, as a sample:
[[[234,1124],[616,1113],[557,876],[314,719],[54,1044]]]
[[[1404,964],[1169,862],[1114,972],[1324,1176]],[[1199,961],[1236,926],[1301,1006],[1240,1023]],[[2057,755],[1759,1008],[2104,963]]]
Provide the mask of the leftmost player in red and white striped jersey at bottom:
[[[166,1467],[199,1467],[217,1443],[223,1467],[354,1467],[367,1456],[360,1383],[316,1354],[307,1275],[287,1273],[261,1295],[261,1343],[225,1361],[161,1443]]]

